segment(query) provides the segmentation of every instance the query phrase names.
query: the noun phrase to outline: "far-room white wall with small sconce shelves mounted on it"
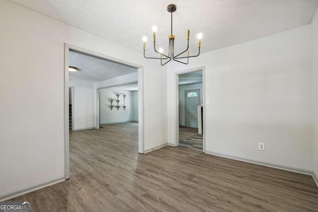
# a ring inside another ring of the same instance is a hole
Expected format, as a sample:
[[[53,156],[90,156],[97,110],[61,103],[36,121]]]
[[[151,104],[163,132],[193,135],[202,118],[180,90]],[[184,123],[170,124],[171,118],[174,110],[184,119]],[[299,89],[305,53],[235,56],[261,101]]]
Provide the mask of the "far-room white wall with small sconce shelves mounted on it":
[[[125,94],[125,105],[126,108],[122,107],[124,105],[123,95],[119,95],[118,105],[121,105],[118,110],[115,107],[117,102],[116,94]],[[110,124],[118,122],[130,122],[133,121],[133,102],[132,102],[132,91],[128,90],[118,90],[118,89],[109,89],[104,88],[99,90],[100,95],[100,124]],[[113,99],[111,108],[111,99]]]

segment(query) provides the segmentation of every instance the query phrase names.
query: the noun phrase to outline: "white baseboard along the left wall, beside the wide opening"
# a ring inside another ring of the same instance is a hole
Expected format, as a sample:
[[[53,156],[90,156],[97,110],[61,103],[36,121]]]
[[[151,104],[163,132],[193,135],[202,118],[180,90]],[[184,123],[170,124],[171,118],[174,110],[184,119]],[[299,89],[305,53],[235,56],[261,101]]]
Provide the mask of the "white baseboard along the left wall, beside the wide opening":
[[[65,176],[59,177],[59,178],[56,178],[56,179],[53,179],[53,180],[49,180],[47,182],[40,183],[40,184],[37,184],[37,185],[34,185],[34,186],[30,186],[30,187],[27,187],[27,188],[24,188],[24,189],[21,189],[21,190],[10,192],[8,194],[4,194],[4,195],[0,196],[0,202],[6,201],[6,200],[12,199],[14,197],[18,197],[18,196],[21,196],[23,194],[27,194],[27,193],[30,193],[30,192],[33,192],[33,191],[36,191],[36,190],[39,190],[39,189],[42,189],[42,188],[45,188],[45,187],[48,187],[48,186],[52,186],[54,184],[57,184],[57,183],[60,183],[60,182],[63,182],[63,181],[65,181]]]

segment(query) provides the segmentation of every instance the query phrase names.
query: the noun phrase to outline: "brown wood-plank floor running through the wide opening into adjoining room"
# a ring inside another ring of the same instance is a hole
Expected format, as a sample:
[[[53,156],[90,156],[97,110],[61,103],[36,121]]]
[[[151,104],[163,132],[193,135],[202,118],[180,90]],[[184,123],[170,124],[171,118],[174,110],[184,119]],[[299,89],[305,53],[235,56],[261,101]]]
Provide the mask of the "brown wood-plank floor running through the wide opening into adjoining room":
[[[71,178],[14,198],[33,212],[318,211],[311,176],[166,146],[138,154],[136,123],[70,135]]]

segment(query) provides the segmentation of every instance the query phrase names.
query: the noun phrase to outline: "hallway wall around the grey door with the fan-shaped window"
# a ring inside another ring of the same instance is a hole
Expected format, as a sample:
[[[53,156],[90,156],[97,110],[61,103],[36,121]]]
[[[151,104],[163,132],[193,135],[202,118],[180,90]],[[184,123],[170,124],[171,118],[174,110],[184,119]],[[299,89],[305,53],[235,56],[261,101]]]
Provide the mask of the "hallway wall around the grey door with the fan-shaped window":
[[[180,103],[179,126],[185,126],[185,91],[192,90],[192,89],[200,90],[200,104],[202,104],[202,99],[203,99],[202,83],[180,85],[179,86],[179,103]]]

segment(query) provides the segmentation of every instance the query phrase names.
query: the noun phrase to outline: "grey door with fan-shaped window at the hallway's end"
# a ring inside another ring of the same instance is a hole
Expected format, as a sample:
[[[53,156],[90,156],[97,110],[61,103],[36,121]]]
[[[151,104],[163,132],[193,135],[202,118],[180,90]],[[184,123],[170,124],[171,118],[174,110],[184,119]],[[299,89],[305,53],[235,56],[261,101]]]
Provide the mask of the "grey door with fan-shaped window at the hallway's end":
[[[185,91],[185,125],[198,128],[198,110],[200,103],[200,89]]]

